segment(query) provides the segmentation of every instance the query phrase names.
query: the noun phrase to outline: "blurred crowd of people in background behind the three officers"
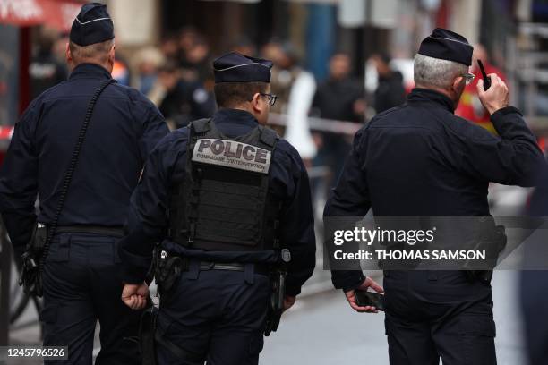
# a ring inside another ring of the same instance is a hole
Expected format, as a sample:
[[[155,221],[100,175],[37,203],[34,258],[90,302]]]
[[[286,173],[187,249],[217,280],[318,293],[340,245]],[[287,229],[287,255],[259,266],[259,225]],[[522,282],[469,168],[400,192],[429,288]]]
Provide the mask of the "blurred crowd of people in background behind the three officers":
[[[67,35],[43,27],[37,39],[29,68],[31,98],[66,80],[69,74],[64,61]],[[388,54],[375,54],[368,60],[377,72],[378,82],[376,88],[367,93],[364,80],[353,72],[355,64],[351,56],[342,51],[330,55],[329,74],[324,80],[314,80],[313,75],[304,70],[295,47],[287,40],[273,38],[261,47],[254,47],[249,39],[241,38],[227,49],[230,51],[273,61],[271,89],[278,99],[271,112],[278,115],[299,115],[299,110],[295,113],[292,110],[302,109],[301,114],[333,123],[361,124],[367,115],[404,103],[408,91],[402,73],[390,67]],[[210,117],[217,108],[211,65],[216,56],[200,31],[184,27],[161,38],[158,47],[142,47],[131,58],[116,54],[113,77],[150,98],[170,128],[181,128],[195,119]],[[292,128],[291,123],[292,118],[287,118],[285,128],[273,127],[283,135]],[[308,128],[306,123],[304,128]],[[297,143],[304,150],[307,163],[329,166],[331,174],[337,174],[350,149],[351,136],[307,132],[312,147],[306,148],[302,141]]]

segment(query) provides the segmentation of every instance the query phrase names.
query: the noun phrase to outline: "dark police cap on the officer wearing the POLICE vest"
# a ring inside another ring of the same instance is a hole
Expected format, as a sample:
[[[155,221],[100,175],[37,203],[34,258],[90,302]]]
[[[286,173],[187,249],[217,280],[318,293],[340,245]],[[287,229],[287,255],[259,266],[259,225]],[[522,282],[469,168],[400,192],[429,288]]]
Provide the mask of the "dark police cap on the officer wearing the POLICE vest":
[[[219,82],[270,82],[272,62],[261,58],[231,52],[213,61],[215,83]]]

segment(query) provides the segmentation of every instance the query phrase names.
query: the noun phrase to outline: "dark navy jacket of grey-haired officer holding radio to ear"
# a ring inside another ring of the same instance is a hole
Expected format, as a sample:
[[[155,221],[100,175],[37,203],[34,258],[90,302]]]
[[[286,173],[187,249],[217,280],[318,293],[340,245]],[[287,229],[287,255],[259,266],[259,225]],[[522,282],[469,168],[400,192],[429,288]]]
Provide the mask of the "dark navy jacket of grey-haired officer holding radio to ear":
[[[488,216],[490,182],[532,186],[545,161],[518,109],[491,116],[500,136],[453,115],[453,103],[414,89],[403,106],[376,115],[355,135],[326,216]],[[333,271],[351,289],[361,271]]]

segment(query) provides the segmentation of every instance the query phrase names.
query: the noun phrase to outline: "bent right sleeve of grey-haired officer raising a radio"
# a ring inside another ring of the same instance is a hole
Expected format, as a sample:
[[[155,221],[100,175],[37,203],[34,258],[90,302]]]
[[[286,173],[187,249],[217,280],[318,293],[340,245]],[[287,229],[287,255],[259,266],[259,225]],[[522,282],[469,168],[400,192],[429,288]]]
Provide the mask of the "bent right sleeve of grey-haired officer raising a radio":
[[[521,113],[504,107],[491,115],[491,121],[500,137],[480,128],[467,133],[458,157],[462,169],[484,181],[534,186],[545,160]]]

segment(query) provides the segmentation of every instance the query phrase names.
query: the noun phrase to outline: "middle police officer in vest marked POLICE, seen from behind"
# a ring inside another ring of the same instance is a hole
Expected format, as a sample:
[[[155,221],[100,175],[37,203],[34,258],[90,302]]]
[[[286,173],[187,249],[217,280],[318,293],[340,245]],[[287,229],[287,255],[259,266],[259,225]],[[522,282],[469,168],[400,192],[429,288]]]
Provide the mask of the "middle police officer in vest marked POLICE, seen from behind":
[[[161,364],[256,364],[271,267],[282,251],[287,261],[288,250],[286,309],[313,273],[306,170],[296,150],[264,127],[276,101],[271,66],[237,53],[215,60],[220,109],[161,140],[133,193],[120,243],[122,299],[144,305],[154,242],[161,241],[158,266],[175,267],[167,279],[159,275]]]

